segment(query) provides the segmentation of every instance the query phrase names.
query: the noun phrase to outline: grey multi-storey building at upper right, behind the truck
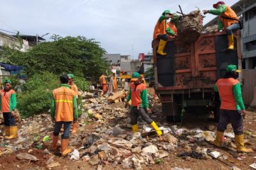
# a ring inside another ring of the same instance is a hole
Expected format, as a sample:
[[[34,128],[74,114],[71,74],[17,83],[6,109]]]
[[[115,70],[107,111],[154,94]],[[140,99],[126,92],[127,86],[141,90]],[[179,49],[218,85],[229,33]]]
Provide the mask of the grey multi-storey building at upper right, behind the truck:
[[[256,1],[240,0],[231,8],[238,16],[243,18],[241,30],[241,50],[243,69],[255,69],[256,67]],[[218,17],[206,23],[203,29],[218,24]]]

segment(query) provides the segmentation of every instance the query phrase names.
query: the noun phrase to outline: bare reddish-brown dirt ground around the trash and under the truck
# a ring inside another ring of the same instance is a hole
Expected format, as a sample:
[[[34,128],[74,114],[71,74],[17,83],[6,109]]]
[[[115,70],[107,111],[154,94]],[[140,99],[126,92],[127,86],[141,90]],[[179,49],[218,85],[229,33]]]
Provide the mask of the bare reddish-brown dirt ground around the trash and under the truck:
[[[110,104],[112,108],[123,108],[124,103],[113,103]],[[211,130],[214,131],[217,123],[213,120],[213,115],[210,113],[186,113],[183,116],[182,123],[168,123],[166,120],[161,117],[161,103],[157,103],[152,108],[154,111],[153,114],[157,114],[154,117],[157,123],[162,123],[164,125],[177,125],[178,127],[193,129],[193,128],[201,128],[201,130]],[[129,115],[127,115],[129,116]],[[117,120],[114,120],[112,124],[117,123]],[[256,113],[254,111],[250,111],[247,117],[244,120],[244,132],[251,132],[256,135]],[[91,123],[87,125],[87,133],[93,132],[95,123]],[[127,134],[131,132],[131,129],[125,129]],[[232,128],[228,126],[227,132],[232,132]],[[251,135],[245,135],[245,140],[247,141],[247,147],[255,149],[256,137],[252,137]],[[48,145],[48,146],[47,146]],[[193,143],[192,143],[193,145]],[[174,152],[169,153],[168,157],[162,159],[162,162],[159,164],[146,166],[142,164],[142,169],[154,169],[154,170],[167,170],[174,167],[179,167],[182,169],[232,169],[232,166],[237,166],[239,169],[250,169],[250,164],[256,162],[256,152],[252,154],[237,154],[236,152],[229,151],[227,149],[213,147],[208,144],[208,142],[196,142],[196,145],[200,147],[208,147],[212,148],[215,151],[218,151],[227,157],[225,163],[218,161],[217,159],[194,159],[191,157],[178,157],[178,154],[181,154],[185,151],[182,144],[178,145],[178,148],[174,150]],[[48,148],[50,143],[46,144],[45,148]],[[193,148],[193,147],[192,147]],[[0,145],[1,149],[1,145]],[[27,160],[18,160],[16,159],[16,154],[18,153],[27,153],[28,149],[21,149],[11,154],[0,155],[0,169],[123,169],[122,164],[112,164],[110,162],[100,162],[102,166],[92,166],[88,164],[83,159],[79,161],[74,161],[68,159],[68,157],[60,157],[59,155],[46,154],[43,149],[31,148],[30,154],[33,154],[38,159],[37,162],[29,162]],[[54,162],[58,162],[60,165],[55,166],[53,168],[47,167],[47,161],[53,157]],[[241,160],[238,160],[239,157]]]

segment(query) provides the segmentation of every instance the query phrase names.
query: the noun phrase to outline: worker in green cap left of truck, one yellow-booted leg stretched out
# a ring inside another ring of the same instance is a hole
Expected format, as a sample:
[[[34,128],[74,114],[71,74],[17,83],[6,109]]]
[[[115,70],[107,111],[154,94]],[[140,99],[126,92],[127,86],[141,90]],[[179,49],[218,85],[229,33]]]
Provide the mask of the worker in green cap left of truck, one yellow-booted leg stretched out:
[[[156,134],[159,136],[159,140],[162,140],[162,132],[159,130],[159,127],[156,125],[154,120],[149,118],[148,113],[151,113],[149,109],[148,98],[146,94],[146,85],[142,84],[142,77],[138,72],[134,72],[132,74],[132,83],[130,84],[129,94],[127,96],[126,107],[128,106],[128,102],[132,100],[132,107],[130,112],[132,132],[138,132],[139,126],[137,124],[139,116],[151,125],[154,130],[156,130]]]

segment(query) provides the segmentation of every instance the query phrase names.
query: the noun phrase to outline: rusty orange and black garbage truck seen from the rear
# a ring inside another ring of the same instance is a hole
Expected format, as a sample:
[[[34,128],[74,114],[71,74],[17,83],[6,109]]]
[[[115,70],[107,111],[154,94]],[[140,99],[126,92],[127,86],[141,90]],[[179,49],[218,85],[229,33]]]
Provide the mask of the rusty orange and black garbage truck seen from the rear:
[[[154,88],[162,103],[162,115],[180,121],[184,111],[213,112],[219,118],[220,99],[213,86],[225,74],[228,64],[241,68],[240,33],[235,34],[235,49],[227,50],[226,33],[201,33],[194,42],[169,40],[164,52],[156,53],[158,40],[152,41]]]

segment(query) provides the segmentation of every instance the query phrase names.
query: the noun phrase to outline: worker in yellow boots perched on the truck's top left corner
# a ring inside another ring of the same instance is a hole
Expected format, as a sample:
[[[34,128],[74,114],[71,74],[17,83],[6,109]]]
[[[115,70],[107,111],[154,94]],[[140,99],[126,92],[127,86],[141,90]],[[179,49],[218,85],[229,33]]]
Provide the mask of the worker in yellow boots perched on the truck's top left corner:
[[[164,11],[160,16],[159,20],[157,21],[156,26],[154,28],[153,39],[160,40],[159,47],[157,50],[157,53],[159,55],[166,55],[166,52],[164,52],[164,47],[166,46],[169,35],[176,36],[176,33],[172,29],[174,28],[174,26],[171,25],[172,27],[170,27],[170,24],[167,21],[172,16],[173,14],[169,10]]]

